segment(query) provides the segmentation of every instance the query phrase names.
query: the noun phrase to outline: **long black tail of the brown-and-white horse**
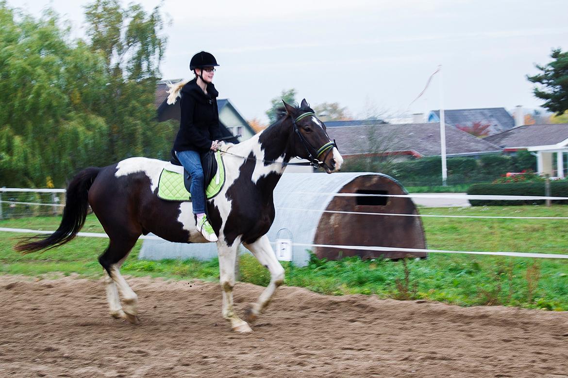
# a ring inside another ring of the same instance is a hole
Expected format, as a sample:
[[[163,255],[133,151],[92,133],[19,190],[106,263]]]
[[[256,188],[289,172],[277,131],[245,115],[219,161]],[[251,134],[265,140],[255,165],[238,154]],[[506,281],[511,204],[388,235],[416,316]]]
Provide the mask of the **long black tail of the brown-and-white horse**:
[[[63,219],[59,228],[51,235],[32,236],[20,241],[14,249],[23,253],[36,252],[41,249],[52,249],[72,240],[85,224],[89,210],[88,192],[101,168],[86,168],[77,173],[69,182],[66,193],[66,203],[63,209]]]

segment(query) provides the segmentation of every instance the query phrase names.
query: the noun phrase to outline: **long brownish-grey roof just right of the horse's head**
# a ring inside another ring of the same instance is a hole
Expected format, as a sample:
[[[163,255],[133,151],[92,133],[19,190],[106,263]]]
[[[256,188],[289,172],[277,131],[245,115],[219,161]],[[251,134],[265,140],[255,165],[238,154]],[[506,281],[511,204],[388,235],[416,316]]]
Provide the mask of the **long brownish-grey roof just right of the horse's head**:
[[[326,122],[327,125],[327,122]],[[328,128],[341,155],[394,154],[412,152],[415,156],[440,156],[440,125],[386,124]],[[477,155],[501,152],[502,148],[446,125],[447,155]]]

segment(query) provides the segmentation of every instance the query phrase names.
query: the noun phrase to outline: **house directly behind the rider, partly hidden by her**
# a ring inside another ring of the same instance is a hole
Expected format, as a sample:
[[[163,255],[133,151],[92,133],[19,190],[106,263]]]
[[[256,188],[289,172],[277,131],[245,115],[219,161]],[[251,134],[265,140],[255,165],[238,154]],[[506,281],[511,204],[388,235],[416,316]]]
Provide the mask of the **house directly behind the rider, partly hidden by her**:
[[[168,105],[168,85],[166,83],[177,83],[181,80],[162,80],[156,86],[156,98],[154,105],[158,112],[158,121],[178,120],[179,121],[179,101],[175,104]],[[217,107],[219,110],[219,123],[223,137],[231,135],[241,135],[238,138],[228,139],[231,143],[239,143],[252,137],[254,130],[248,122],[237,111],[235,105],[229,99],[217,99]]]

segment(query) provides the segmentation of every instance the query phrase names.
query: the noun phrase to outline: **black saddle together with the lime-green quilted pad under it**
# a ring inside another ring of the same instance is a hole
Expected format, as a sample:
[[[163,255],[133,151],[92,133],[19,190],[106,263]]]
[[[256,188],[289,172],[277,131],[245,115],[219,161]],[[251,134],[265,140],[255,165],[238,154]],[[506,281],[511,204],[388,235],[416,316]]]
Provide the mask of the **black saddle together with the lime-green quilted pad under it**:
[[[201,154],[207,199],[215,197],[225,183],[225,166],[221,152],[207,151]],[[172,159],[166,164],[158,181],[158,198],[166,201],[191,201],[191,175],[183,168],[172,151]]]

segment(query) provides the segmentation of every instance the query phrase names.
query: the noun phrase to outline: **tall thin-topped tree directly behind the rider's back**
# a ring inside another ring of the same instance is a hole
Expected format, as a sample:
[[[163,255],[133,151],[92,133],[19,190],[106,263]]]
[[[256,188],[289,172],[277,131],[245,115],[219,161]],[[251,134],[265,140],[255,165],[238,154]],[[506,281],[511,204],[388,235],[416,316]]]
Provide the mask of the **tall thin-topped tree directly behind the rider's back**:
[[[156,120],[154,96],[166,37],[160,6],[147,13],[138,4],[95,0],[85,8],[90,48],[102,54],[108,74],[100,109],[110,125],[109,163],[130,156],[167,158],[171,122]]]

